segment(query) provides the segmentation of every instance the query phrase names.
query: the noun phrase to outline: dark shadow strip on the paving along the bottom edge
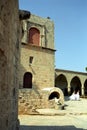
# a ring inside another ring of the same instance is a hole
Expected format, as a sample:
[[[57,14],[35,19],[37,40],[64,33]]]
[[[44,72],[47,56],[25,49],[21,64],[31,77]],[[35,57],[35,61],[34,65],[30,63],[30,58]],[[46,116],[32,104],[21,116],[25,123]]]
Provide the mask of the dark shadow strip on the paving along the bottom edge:
[[[20,130],[85,130],[74,126],[20,126]]]

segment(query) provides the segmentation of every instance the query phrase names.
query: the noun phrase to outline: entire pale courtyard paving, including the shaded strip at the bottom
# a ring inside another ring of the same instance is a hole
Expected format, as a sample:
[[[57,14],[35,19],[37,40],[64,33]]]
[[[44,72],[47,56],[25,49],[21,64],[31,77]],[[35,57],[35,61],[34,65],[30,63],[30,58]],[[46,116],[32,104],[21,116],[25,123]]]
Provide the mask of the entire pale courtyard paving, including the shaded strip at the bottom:
[[[20,130],[87,130],[87,99],[65,101],[65,110],[39,109],[39,115],[19,115]]]

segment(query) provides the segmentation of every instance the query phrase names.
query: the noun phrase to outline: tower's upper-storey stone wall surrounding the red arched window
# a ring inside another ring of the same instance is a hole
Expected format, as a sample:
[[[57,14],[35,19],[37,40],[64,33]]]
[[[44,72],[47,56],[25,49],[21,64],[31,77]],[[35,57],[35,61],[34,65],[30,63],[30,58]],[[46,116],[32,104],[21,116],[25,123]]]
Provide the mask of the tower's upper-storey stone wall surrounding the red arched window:
[[[31,14],[30,19],[22,22],[24,31],[22,42],[28,44],[29,29],[35,27],[40,31],[40,46],[54,49],[54,22],[51,19]]]

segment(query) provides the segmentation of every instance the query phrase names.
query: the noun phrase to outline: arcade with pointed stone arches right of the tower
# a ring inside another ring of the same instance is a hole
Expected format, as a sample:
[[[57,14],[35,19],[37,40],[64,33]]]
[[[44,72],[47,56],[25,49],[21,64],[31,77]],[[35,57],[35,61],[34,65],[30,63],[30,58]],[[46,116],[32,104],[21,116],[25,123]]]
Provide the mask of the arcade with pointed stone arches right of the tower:
[[[87,73],[55,69],[55,75],[55,86],[60,88],[65,96],[78,90],[80,96],[87,96]]]

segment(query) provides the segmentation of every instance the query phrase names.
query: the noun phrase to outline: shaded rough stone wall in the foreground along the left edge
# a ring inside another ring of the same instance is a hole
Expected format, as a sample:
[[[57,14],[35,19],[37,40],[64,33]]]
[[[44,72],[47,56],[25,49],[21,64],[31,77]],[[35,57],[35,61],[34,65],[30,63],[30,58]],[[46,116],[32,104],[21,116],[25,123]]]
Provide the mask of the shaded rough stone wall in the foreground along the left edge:
[[[18,130],[18,0],[0,0],[0,130]]]

